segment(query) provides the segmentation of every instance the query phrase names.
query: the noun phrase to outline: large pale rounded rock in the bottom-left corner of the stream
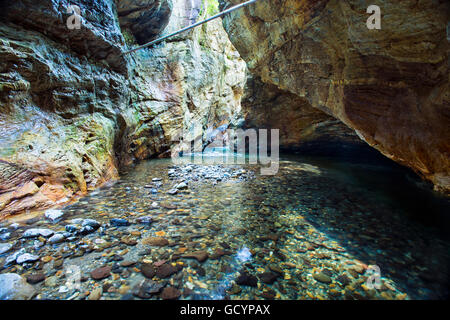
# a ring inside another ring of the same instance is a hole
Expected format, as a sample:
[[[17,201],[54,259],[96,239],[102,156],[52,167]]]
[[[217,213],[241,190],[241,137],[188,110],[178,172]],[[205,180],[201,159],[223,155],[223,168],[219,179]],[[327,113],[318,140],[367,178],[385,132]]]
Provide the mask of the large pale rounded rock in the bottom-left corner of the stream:
[[[29,300],[35,294],[34,288],[18,274],[0,274],[0,300]]]

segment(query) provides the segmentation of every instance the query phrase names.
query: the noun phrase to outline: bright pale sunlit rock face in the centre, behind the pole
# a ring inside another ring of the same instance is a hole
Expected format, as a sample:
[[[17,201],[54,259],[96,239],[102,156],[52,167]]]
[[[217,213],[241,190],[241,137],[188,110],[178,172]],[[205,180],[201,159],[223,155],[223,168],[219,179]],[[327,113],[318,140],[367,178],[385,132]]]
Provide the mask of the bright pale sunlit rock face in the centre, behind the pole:
[[[203,2],[193,3],[173,1],[171,19],[161,35],[206,18],[206,12],[199,15]],[[137,51],[132,60],[133,107],[127,110],[123,141],[128,151],[122,159],[169,156],[180,134],[194,139],[202,130],[239,117],[246,64],[220,20],[170,38],[151,51]]]

